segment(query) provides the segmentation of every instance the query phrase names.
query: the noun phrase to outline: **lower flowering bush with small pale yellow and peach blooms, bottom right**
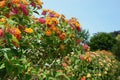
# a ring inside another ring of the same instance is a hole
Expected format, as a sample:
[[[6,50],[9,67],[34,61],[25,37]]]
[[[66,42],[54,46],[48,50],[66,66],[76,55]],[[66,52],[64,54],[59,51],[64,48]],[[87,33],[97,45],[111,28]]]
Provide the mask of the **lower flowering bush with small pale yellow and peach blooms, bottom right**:
[[[45,80],[119,80],[120,63],[107,51],[68,54],[62,61],[39,68],[39,79]]]

